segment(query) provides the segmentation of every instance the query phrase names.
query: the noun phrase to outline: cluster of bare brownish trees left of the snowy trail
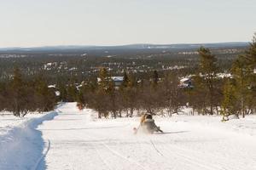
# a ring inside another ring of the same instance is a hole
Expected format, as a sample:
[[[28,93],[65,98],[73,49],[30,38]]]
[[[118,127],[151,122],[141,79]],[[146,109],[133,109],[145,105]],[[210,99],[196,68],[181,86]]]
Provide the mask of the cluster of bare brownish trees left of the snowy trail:
[[[9,81],[0,82],[0,111],[25,116],[29,111],[51,111],[55,105],[55,91],[48,88],[43,76],[26,80],[16,68]]]

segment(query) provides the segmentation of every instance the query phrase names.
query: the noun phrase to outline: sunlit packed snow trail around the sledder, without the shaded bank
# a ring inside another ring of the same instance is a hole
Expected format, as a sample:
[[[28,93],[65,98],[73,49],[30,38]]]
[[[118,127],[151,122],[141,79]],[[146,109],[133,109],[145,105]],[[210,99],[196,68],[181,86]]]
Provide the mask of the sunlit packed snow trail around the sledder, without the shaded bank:
[[[135,135],[132,128],[137,127],[138,118],[93,120],[94,111],[79,111],[74,103],[62,105],[59,110],[54,120],[38,127],[51,144],[45,157],[46,169],[256,169],[255,135],[189,121],[196,116],[180,121],[157,119],[166,133]],[[218,120],[218,124],[222,122]]]

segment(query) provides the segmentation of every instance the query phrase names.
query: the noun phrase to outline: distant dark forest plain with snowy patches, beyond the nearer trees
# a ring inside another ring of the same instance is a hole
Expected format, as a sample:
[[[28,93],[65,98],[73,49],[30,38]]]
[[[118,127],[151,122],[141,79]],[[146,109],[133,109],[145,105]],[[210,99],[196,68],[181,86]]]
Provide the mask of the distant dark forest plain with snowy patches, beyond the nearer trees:
[[[223,47],[211,48],[218,54],[220,69],[230,69],[230,63],[237,54],[247,48]],[[101,52],[100,52],[101,51]],[[126,50],[96,50],[90,51],[55,51],[55,53],[38,52],[0,52],[0,81],[9,80],[14,68],[19,67],[24,77],[36,77],[43,73],[50,84],[67,83],[68,79],[82,82],[88,77],[96,77],[100,67],[106,67],[114,76],[123,75],[123,71],[134,72],[137,77],[143,77],[150,71],[181,70],[183,74],[195,74],[198,65],[196,49],[166,48]],[[99,53],[100,52],[100,53]]]

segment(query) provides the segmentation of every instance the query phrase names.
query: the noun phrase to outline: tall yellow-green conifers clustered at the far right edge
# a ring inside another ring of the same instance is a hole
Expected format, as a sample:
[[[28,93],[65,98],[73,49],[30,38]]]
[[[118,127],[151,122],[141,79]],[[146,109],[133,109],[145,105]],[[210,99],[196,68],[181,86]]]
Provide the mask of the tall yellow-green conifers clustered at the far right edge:
[[[256,106],[256,33],[250,47],[234,61],[232,78],[224,84],[224,116],[252,114]]]

